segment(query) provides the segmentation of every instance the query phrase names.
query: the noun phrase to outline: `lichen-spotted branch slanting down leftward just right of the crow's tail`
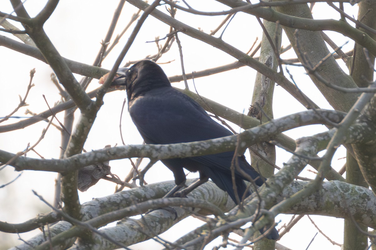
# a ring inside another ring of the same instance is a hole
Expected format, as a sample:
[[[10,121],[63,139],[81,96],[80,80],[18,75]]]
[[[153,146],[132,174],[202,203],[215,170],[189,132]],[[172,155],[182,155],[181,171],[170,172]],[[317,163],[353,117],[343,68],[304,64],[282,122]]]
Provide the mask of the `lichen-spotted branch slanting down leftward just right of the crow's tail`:
[[[294,177],[303,170],[308,164],[310,157],[317,153],[317,139],[316,138],[303,138],[300,143],[297,144],[295,153],[290,160],[285,164],[275,176],[271,176],[266,180],[265,185],[258,189],[258,194],[252,193],[246,198],[246,206],[243,209],[235,208],[229,213],[226,221],[230,223],[222,223],[221,226],[211,230],[210,234],[206,236],[206,241],[211,241],[223,232],[226,232],[230,228],[240,227],[246,223],[252,222],[253,227],[249,228],[249,235],[253,235],[257,230],[270,224],[274,221],[274,217],[288,208],[287,203],[295,204],[299,202],[296,198],[287,198],[276,205],[276,197],[282,190],[288,186]],[[300,190],[300,192],[304,189]],[[305,198],[304,196],[302,198]],[[261,207],[260,207],[261,206]],[[273,207],[272,207],[273,206]],[[270,217],[261,216],[260,209],[270,209]],[[277,209],[276,209],[277,208]],[[256,215],[255,215],[256,214]],[[260,217],[261,216],[261,217]],[[256,218],[260,217],[258,220]],[[196,238],[193,241],[188,242],[184,247],[198,247],[203,244],[204,238]]]

